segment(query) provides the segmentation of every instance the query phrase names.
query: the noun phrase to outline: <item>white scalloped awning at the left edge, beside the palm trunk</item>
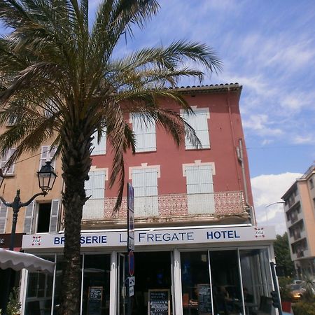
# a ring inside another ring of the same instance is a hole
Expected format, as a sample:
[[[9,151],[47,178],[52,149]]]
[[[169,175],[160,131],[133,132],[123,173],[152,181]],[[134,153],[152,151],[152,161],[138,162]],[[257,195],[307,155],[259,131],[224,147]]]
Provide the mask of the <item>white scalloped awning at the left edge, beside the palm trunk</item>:
[[[52,273],[55,269],[55,262],[29,253],[8,251],[0,248],[0,268],[12,268],[14,270],[27,269],[29,272],[43,271]]]

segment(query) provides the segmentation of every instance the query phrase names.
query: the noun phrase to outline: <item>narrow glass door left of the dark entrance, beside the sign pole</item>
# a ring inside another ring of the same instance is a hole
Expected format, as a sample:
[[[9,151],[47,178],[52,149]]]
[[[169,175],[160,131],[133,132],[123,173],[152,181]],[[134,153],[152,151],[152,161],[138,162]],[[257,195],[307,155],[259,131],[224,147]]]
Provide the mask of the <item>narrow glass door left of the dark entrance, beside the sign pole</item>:
[[[126,314],[126,274],[125,274],[125,255],[118,253],[118,266],[117,266],[117,304],[118,304],[118,315]]]

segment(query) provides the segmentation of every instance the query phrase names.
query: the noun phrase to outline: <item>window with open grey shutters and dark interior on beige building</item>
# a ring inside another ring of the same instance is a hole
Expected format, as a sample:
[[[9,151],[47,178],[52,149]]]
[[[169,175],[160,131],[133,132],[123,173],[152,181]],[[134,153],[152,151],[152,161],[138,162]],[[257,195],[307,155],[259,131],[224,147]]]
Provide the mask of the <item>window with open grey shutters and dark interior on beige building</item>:
[[[31,202],[26,207],[24,233],[57,232],[59,200],[47,203]]]

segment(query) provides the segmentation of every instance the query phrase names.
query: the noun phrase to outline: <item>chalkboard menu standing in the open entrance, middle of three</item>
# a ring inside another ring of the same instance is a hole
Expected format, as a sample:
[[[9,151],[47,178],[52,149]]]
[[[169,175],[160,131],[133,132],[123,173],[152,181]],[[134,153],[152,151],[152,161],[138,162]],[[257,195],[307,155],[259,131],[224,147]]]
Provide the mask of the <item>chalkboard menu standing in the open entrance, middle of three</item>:
[[[148,290],[148,315],[170,315],[168,289]]]

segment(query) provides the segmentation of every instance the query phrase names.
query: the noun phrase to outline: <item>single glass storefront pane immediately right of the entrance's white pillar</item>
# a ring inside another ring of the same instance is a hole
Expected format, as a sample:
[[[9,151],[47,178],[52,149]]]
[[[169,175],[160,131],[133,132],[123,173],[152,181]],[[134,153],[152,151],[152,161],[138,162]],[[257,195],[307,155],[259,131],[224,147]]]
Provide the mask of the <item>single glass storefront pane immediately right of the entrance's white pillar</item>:
[[[208,252],[181,253],[183,314],[211,314]]]

